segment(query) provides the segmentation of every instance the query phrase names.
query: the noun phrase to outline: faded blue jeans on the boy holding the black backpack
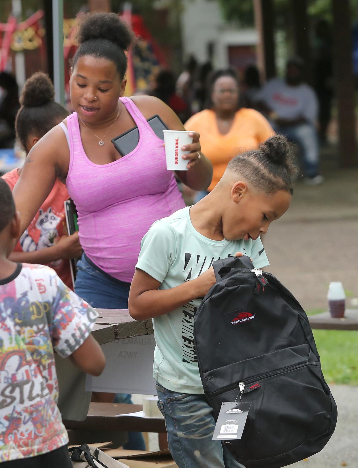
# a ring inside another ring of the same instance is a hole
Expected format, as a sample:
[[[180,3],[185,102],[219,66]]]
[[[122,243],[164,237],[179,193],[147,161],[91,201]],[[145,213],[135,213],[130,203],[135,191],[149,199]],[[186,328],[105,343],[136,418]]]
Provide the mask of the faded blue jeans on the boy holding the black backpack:
[[[179,468],[244,468],[225,443],[211,440],[215,420],[204,395],[172,392],[158,383],[156,388],[169,450]]]

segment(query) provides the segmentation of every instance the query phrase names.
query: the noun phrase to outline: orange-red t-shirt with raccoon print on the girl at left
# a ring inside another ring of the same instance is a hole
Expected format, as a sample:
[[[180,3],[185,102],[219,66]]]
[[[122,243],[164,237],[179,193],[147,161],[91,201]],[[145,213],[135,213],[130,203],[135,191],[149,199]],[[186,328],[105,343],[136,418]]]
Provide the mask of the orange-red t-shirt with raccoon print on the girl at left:
[[[11,191],[14,190],[15,183],[19,180],[17,168],[4,174],[2,178],[7,182]],[[63,227],[66,221],[63,203],[65,200],[68,200],[66,185],[56,179],[49,196],[17,242],[15,252],[33,252],[51,247],[54,239],[64,234]],[[56,271],[65,285],[73,289],[69,260],[56,260],[48,263],[48,266]]]

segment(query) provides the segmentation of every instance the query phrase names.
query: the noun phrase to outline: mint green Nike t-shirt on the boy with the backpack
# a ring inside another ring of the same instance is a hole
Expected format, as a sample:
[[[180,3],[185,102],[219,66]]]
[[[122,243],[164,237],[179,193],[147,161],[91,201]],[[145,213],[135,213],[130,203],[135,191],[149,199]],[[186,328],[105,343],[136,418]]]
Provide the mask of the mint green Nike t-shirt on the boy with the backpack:
[[[136,268],[171,289],[198,278],[219,258],[242,252],[256,268],[269,264],[260,238],[256,241],[213,241],[198,233],[190,220],[190,207],[155,222],[143,237]],[[156,349],[153,377],[168,390],[203,394],[194,349],[194,316],[201,299],[188,302],[153,319]]]

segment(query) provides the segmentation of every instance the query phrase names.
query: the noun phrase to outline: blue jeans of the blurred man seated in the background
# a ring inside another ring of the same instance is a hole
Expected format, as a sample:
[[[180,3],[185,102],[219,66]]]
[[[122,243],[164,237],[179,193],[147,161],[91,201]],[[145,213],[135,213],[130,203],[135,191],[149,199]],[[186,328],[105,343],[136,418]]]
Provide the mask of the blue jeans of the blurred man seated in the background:
[[[298,146],[303,162],[303,168],[307,177],[319,174],[318,161],[320,148],[317,131],[313,124],[299,124],[280,127],[273,124],[275,132],[282,133]]]

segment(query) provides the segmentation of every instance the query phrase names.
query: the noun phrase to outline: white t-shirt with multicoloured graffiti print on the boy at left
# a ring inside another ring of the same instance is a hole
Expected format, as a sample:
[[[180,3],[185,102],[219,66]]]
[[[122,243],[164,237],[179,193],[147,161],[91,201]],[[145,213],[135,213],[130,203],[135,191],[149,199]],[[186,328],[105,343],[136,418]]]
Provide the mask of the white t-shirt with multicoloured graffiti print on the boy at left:
[[[0,281],[0,462],[67,444],[53,349],[72,354],[97,316],[47,266],[19,263]]]

